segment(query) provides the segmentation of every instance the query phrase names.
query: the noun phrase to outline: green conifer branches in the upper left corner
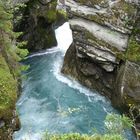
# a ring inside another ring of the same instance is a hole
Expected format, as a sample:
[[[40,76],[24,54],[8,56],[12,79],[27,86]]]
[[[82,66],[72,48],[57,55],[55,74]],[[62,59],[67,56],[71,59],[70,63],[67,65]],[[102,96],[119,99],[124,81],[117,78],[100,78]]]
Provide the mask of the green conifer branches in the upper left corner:
[[[7,51],[7,54],[10,53],[10,55],[18,61],[20,58],[24,58],[28,54],[28,51],[26,49],[20,49],[21,46],[26,45],[25,42],[15,42],[15,39],[19,37],[21,33],[13,32],[13,12],[14,8],[10,1],[0,1],[0,47],[3,51]]]

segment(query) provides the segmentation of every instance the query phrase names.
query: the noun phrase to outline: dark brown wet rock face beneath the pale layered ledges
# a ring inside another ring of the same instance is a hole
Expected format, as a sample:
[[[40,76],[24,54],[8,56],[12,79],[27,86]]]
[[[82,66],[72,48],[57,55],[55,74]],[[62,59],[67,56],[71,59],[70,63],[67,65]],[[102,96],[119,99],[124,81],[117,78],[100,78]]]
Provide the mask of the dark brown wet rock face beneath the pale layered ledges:
[[[90,89],[100,91],[101,94],[111,99],[114,73],[106,72],[87,56],[80,58],[74,44],[67,50],[62,72],[74,77]]]

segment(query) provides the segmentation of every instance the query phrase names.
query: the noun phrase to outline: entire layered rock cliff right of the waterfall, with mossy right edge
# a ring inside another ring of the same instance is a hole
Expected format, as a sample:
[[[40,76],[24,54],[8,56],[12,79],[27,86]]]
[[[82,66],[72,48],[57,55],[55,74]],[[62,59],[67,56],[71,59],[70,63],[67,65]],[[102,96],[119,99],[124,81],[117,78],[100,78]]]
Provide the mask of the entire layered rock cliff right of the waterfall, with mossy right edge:
[[[140,104],[139,4],[138,0],[65,1],[73,43],[62,72],[117,107]]]

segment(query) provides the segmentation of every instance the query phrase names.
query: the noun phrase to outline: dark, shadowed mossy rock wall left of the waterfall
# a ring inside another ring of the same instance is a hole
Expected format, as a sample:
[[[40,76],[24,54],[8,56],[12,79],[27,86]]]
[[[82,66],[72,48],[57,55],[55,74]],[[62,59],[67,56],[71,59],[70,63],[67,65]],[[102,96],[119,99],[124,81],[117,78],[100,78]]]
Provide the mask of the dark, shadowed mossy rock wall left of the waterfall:
[[[39,51],[56,46],[53,23],[56,20],[57,1],[31,0],[26,5],[19,11],[22,20],[15,23],[15,30],[24,33],[20,39],[28,41],[28,50]]]

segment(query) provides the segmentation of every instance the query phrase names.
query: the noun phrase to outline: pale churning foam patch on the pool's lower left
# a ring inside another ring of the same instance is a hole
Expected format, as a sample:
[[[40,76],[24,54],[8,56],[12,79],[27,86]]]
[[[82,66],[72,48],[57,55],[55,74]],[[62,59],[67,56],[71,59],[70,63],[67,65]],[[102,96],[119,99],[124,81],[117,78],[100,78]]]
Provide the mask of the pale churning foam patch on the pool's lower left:
[[[18,101],[18,106],[22,106],[22,104],[24,105],[22,107],[22,114],[21,115],[21,120],[24,126],[29,126],[31,129],[29,129],[28,131],[25,131],[24,129],[26,129],[25,127],[22,127],[20,130],[20,135],[18,136],[18,132],[15,132],[15,136],[16,136],[16,140],[41,140],[42,137],[42,133],[41,131],[38,132],[34,132],[32,131],[32,128],[35,127],[33,126],[33,124],[38,126],[38,129],[42,129],[40,126],[40,124],[43,124],[43,122],[45,122],[46,120],[46,112],[45,113],[41,113],[41,117],[40,114],[38,116],[38,110],[41,110],[42,105],[41,103],[44,102],[43,100],[37,100],[35,98],[29,98],[29,97],[22,97],[22,99],[24,99],[24,103],[22,102],[22,100]],[[29,107],[30,106],[30,107]],[[31,111],[29,111],[26,108],[30,108]],[[33,114],[34,112],[34,114]],[[31,114],[30,114],[31,113]],[[23,118],[22,118],[23,117]],[[38,120],[36,120],[36,118],[38,118]],[[28,123],[28,124],[27,124]],[[40,128],[39,128],[40,127]],[[24,129],[23,129],[24,128]],[[17,133],[17,134],[16,134]]]

